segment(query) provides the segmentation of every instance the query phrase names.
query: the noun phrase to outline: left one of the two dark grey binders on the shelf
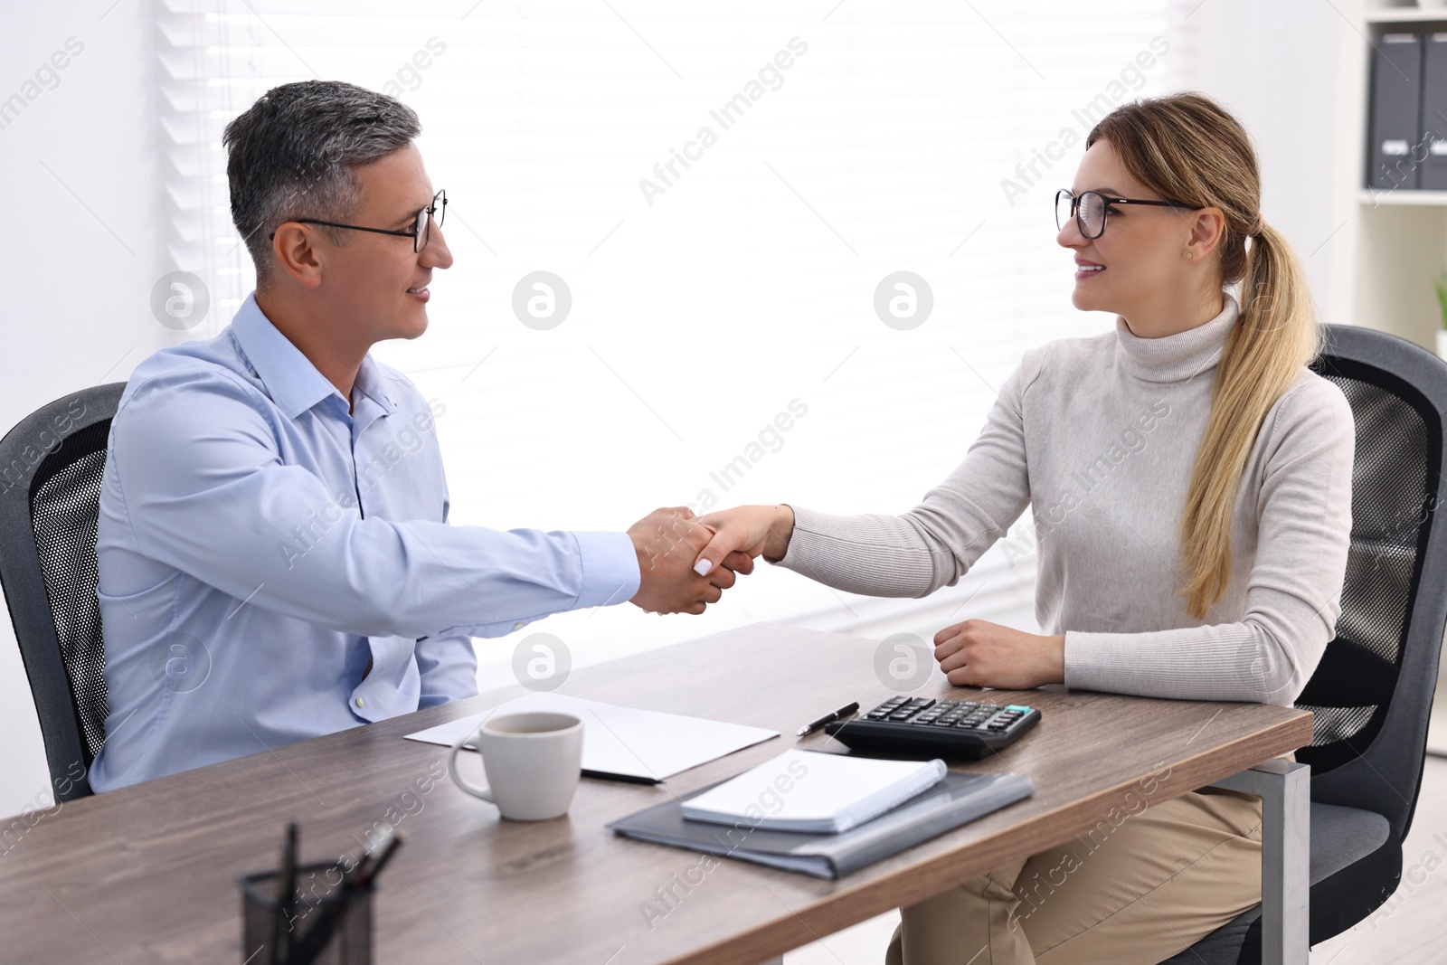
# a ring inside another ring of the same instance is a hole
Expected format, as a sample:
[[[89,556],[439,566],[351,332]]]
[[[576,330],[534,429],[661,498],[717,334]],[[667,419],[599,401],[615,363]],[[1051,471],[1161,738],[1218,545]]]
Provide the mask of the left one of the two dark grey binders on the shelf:
[[[1367,185],[1415,188],[1427,146],[1421,143],[1422,39],[1386,33],[1372,51],[1372,143]]]

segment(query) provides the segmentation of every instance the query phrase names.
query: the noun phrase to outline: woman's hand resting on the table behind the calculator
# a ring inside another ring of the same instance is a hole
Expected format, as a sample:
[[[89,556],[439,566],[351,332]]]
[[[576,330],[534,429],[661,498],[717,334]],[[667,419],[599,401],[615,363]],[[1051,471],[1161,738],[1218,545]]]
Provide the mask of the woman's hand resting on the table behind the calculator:
[[[1065,683],[1065,637],[1039,637],[983,619],[935,634],[935,660],[956,687],[1032,690]]]

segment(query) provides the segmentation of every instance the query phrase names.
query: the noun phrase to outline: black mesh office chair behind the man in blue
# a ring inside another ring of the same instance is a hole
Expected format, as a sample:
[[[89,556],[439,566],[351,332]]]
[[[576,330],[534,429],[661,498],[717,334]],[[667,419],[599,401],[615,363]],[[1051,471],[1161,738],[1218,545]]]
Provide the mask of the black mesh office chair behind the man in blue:
[[[124,382],[81,389],[0,440],[0,587],[30,679],[56,803],[91,793],[106,742],[96,521]]]

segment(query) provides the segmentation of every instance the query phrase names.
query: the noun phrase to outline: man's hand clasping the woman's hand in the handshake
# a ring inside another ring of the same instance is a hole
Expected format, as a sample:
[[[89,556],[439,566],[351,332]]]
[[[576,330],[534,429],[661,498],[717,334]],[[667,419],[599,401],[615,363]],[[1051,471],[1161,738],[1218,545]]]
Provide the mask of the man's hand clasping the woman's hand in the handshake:
[[[713,530],[693,521],[687,506],[654,509],[628,527],[641,574],[632,602],[651,613],[702,613],[734,586],[735,571],[754,571],[750,556],[731,553],[724,566],[699,576],[693,563],[712,535]]]

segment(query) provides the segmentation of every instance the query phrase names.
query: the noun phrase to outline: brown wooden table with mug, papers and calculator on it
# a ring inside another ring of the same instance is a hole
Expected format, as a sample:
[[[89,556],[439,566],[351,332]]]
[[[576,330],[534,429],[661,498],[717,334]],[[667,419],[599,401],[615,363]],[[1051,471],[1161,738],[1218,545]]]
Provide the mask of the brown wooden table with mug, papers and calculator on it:
[[[1311,715],[1289,707],[994,692],[987,699],[1035,705],[1043,720],[1003,755],[964,767],[1014,770],[1037,794],[841,881],[719,861],[680,885],[700,855],[605,830],[794,744],[838,747],[793,734],[849,699],[871,707],[893,696],[873,670],[877,647],[757,624],[574,671],[560,693],[784,736],[663,786],[585,778],[554,822],[501,822],[446,778],[446,748],[402,739],[527,693],[521,686],[64,804],[6,838],[0,959],[242,962],[236,878],[273,868],[295,819],[304,861],[355,854],[379,822],[407,836],[375,896],[381,965],[757,965],[1084,833],[1129,807],[1126,793],[1147,774],[1169,768],[1152,799],[1166,800],[1311,741]],[[948,692],[936,671],[917,693]]]

